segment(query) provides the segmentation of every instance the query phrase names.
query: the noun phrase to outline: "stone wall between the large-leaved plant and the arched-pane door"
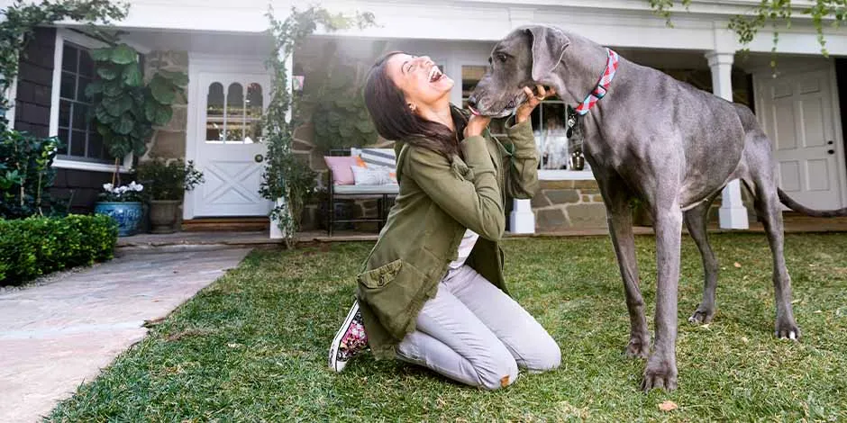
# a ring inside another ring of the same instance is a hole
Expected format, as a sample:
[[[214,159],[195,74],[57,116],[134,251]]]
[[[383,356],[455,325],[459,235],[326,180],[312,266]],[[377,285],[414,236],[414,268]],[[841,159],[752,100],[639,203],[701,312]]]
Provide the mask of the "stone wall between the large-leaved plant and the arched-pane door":
[[[144,57],[144,77],[149,82],[158,69],[188,73],[187,51],[151,51]],[[140,161],[152,157],[186,157],[187,98],[179,97],[173,104],[174,115],[167,125],[154,128],[147,144],[147,153]]]

